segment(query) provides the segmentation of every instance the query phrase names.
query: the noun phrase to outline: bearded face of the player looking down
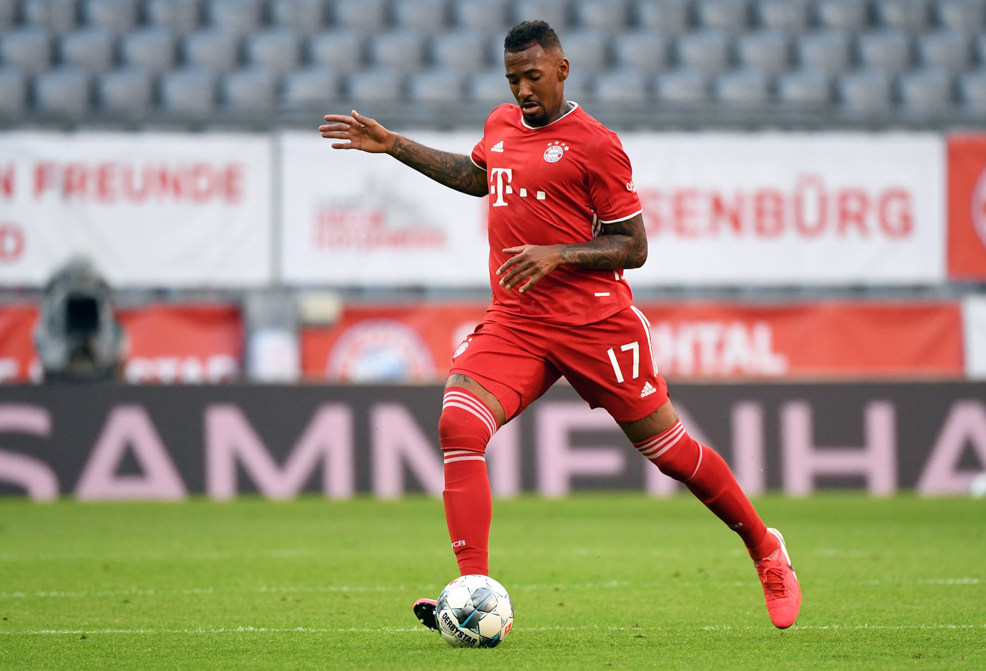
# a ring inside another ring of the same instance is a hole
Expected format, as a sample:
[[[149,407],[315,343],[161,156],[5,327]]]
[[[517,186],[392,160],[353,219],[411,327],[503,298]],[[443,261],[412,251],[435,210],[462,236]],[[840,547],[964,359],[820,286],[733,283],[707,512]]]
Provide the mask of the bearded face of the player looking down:
[[[524,51],[505,53],[503,60],[510,90],[528,126],[543,126],[553,120],[565,100],[568,59],[564,54],[534,44]]]

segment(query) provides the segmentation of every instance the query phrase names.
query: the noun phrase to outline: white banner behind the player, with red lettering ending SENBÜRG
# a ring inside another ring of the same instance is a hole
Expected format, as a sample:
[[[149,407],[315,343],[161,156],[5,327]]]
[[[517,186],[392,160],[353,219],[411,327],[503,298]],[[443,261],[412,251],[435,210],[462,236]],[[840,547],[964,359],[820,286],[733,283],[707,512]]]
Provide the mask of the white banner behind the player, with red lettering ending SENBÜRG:
[[[476,133],[410,133],[468,154]],[[933,134],[623,133],[650,258],[635,286],[945,279]],[[386,156],[281,136],[282,272],[294,284],[488,282],[486,199]]]

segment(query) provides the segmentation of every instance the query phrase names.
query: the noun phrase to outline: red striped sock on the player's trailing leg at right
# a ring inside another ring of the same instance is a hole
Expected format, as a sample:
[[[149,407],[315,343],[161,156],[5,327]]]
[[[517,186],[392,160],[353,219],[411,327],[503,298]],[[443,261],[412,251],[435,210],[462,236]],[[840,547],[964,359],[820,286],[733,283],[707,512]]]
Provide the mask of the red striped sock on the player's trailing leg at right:
[[[767,533],[767,527],[743,494],[723,457],[688,436],[680,422],[658,436],[634,443],[634,446],[662,473],[684,483],[700,502],[740,534],[754,560],[762,559],[776,549],[770,547],[768,550],[768,546],[776,545],[776,538]]]

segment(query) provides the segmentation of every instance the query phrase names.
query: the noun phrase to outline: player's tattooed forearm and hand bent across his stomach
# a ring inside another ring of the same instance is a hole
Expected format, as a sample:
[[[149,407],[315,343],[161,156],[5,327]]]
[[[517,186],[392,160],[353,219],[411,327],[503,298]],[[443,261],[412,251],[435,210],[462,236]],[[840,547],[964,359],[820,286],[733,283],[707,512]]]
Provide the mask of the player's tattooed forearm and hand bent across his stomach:
[[[588,242],[574,244],[524,244],[504,249],[514,254],[500,266],[500,286],[514,289],[524,280],[521,293],[528,291],[541,278],[561,265],[594,270],[623,270],[639,268],[647,260],[647,234],[644,218],[636,215],[622,222],[604,224],[602,235]]]

